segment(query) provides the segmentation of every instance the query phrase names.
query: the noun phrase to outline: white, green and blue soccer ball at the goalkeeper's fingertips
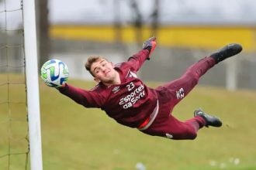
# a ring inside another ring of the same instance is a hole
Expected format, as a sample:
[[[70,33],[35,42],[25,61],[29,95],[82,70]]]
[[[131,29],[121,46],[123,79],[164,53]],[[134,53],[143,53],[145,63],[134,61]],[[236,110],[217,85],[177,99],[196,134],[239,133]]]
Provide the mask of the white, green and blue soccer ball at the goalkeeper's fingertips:
[[[41,68],[41,78],[49,87],[61,87],[68,75],[67,65],[59,59],[50,59]]]

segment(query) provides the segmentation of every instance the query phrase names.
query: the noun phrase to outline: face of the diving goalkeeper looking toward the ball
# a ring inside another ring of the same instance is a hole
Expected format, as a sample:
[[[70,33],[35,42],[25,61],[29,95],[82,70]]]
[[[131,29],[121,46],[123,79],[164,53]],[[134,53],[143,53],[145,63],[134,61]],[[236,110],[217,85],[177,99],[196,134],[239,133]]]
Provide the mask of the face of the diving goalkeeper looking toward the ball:
[[[92,63],[91,72],[96,82],[102,82],[107,85],[112,85],[116,80],[116,76],[119,76],[114,69],[114,65],[106,59],[99,59]]]

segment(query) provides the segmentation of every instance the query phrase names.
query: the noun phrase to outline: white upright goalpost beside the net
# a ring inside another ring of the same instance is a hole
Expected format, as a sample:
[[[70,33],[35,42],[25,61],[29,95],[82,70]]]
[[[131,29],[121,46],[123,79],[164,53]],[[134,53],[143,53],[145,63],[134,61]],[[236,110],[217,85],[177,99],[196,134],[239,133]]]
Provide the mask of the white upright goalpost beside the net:
[[[26,63],[27,107],[29,118],[30,169],[42,170],[42,144],[40,130],[40,97],[38,83],[36,4],[23,0],[23,25]]]

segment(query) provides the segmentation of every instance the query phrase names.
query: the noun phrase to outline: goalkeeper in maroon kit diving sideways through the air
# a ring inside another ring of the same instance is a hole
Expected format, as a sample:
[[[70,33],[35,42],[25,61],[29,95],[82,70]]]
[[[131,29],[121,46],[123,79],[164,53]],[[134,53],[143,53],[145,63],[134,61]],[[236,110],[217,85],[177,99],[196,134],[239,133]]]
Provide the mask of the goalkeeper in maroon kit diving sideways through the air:
[[[171,111],[199,82],[199,78],[217,63],[240,53],[239,44],[230,44],[218,52],[200,59],[177,80],[155,89],[147,87],[137,77],[137,71],[150,59],[156,38],[144,42],[143,49],[128,61],[113,64],[101,56],[90,56],[85,63],[98,83],[92,90],[73,87],[68,83],[58,88],[61,93],[84,107],[98,107],[119,124],[137,128],[145,134],[171,139],[195,139],[203,127],[220,127],[218,117],[195,110],[194,117],[179,121]]]

